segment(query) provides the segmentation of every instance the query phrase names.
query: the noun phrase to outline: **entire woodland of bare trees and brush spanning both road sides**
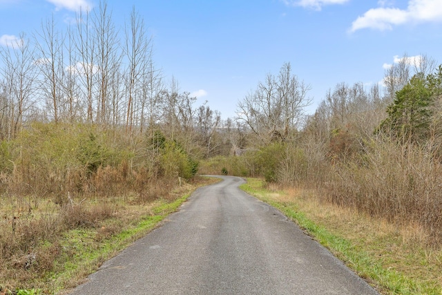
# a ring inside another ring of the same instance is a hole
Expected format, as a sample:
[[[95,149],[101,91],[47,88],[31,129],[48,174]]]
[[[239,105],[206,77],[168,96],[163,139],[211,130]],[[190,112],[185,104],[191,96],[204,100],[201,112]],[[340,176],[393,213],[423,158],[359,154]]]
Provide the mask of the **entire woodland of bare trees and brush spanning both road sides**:
[[[1,276],[41,245],[61,253],[57,236],[97,227],[120,202],[171,200],[200,174],[311,189],[419,225],[440,247],[442,66],[432,57],[404,54],[383,85],[339,83],[313,114],[310,86],[287,62],[222,120],[166,82],[153,45],[135,8],[117,28],[101,3],[66,31],[47,19],[0,49]],[[12,281],[54,272],[52,260]]]

